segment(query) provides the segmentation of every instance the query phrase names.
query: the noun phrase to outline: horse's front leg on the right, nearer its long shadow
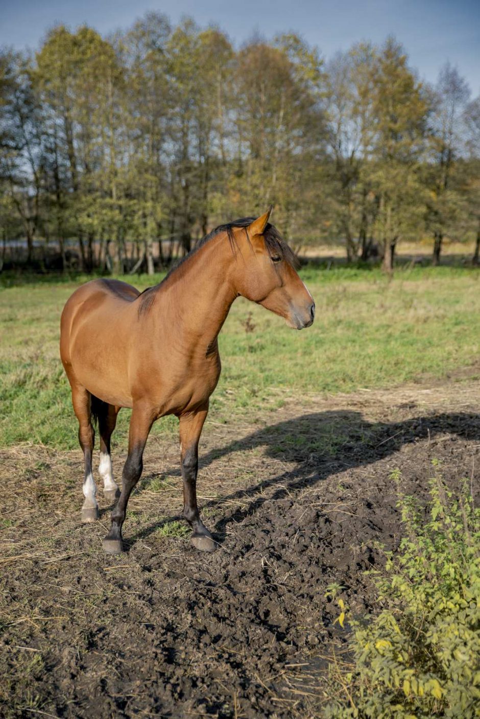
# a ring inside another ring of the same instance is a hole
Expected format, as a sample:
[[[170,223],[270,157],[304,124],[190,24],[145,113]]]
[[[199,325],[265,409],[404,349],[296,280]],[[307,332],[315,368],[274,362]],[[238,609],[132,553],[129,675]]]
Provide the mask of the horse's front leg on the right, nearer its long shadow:
[[[192,544],[202,551],[214,551],[216,542],[200,519],[197,505],[198,440],[208,413],[208,403],[195,412],[180,416],[180,462],[183,478],[183,516],[193,529]]]

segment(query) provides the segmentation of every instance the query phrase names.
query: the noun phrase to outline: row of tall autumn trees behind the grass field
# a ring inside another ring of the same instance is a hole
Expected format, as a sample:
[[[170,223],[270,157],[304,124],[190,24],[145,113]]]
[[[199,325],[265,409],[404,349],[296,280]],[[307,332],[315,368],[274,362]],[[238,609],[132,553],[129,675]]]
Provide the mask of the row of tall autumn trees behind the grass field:
[[[167,266],[213,226],[272,203],[293,247],[350,261],[402,240],[480,250],[480,97],[448,63],[417,77],[393,38],[328,61],[294,34],[238,50],[149,13],[126,32],[59,25],[0,51],[0,237],[81,269]],[[72,245],[75,245],[75,252]]]

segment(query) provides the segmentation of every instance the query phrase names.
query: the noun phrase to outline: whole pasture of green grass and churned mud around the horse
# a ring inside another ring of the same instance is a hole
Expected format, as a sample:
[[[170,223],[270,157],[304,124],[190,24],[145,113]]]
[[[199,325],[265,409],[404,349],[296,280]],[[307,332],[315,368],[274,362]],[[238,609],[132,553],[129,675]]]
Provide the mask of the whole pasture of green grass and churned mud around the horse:
[[[348,633],[328,590],[341,585],[353,613],[375,609],[364,572],[401,533],[392,470],[419,498],[433,459],[453,487],[478,472],[480,275],[301,275],[317,305],[310,329],[239,300],[220,335],[198,475],[221,544],[208,556],[179,521],[175,418],[149,438],[128,551],[103,554],[101,493],[100,521],[80,523],[83,459],[58,337],[63,304],[87,278],[4,280],[3,715],[321,715],[326,666]],[[128,416],[112,442],[117,479]]]

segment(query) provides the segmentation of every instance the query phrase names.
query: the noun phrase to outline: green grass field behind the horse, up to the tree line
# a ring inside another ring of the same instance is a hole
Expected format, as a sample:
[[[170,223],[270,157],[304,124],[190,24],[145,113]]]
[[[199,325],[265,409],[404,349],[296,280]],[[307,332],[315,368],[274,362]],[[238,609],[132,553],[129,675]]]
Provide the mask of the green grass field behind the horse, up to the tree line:
[[[378,270],[305,267],[315,298],[310,329],[243,299],[220,335],[223,372],[211,401],[214,421],[274,410],[288,395],[388,387],[425,375],[440,378],[478,362],[480,273],[461,267]],[[159,278],[154,278],[158,281]],[[63,304],[86,277],[4,280],[0,289],[0,445],[30,441],[77,446],[70,390],[58,354]],[[132,278],[139,288],[152,278]],[[249,318],[249,322],[246,322]],[[252,329],[253,326],[253,329]],[[249,331],[246,331],[249,328]],[[116,441],[124,444],[129,411]],[[165,418],[154,431],[175,431]]]

